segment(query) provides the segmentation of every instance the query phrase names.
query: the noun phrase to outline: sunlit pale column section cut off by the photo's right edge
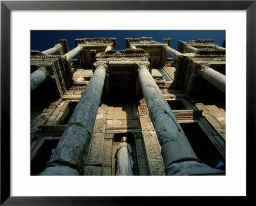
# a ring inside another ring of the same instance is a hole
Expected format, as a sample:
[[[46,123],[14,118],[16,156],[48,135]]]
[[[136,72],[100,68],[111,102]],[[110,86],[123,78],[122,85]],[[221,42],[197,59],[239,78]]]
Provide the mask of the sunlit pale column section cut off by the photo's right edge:
[[[204,68],[200,70],[200,75],[202,78],[205,78],[212,85],[220,89],[225,93],[226,90],[226,76],[221,74],[218,71],[213,70],[212,68]]]

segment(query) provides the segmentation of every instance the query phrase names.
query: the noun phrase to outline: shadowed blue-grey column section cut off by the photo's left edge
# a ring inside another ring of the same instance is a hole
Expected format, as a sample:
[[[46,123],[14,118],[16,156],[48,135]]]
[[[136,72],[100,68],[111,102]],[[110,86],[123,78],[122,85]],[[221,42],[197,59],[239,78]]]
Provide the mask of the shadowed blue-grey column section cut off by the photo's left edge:
[[[47,68],[45,66],[40,66],[38,70],[34,71],[30,75],[30,88],[31,91],[36,89],[49,75],[49,71],[47,71]]]

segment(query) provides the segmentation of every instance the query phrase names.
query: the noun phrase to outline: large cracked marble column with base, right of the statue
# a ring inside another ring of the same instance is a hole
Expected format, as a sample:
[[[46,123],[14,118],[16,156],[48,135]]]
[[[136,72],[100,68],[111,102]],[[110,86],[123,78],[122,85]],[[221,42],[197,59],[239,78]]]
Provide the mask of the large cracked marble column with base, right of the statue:
[[[223,173],[200,162],[154,78],[150,75],[148,65],[139,63],[138,67],[138,76],[148,112],[162,147],[166,175]]]

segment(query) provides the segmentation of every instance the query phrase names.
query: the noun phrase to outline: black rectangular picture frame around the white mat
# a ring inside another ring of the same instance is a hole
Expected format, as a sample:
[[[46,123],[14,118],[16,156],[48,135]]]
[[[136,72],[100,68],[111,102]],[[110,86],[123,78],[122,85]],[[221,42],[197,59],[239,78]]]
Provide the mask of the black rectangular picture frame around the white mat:
[[[246,196],[255,174],[256,1],[1,1],[1,205],[152,205],[168,197],[10,196],[10,12],[12,10],[246,10]],[[239,43],[239,40],[237,40]],[[239,113],[239,108],[237,108]],[[237,114],[239,115],[239,114]],[[238,166],[238,164],[237,164]],[[234,183],[234,186],[236,184]],[[174,197],[173,197],[174,198]],[[184,198],[184,197],[175,197]],[[244,198],[244,197],[241,197]],[[162,202],[163,201],[163,202]],[[168,200],[169,201],[169,200]],[[244,200],[243,200],[244,201]]]

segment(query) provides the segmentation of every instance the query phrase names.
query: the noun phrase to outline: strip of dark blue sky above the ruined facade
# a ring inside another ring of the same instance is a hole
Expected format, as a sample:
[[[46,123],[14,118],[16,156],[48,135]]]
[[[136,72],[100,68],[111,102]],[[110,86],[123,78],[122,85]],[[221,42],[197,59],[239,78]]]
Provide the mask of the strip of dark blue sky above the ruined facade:
[[[225,31],[221,30],[88,30],[88,31],[31,31],[31,50],[44,51],[54,47],[56,40],[65,39],[69,50],[75,47],[76,38],[93,37],[115,37],[117,40],[116,50],[125,49],[125,38],[141,38],[142,36],[151,36],[154,41],[163,42],[164,38],[171,38],[170,47],[177,49],[179,40],[214,40],[216,45],[223,45],[225,40]]]

